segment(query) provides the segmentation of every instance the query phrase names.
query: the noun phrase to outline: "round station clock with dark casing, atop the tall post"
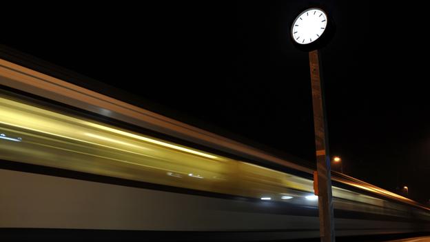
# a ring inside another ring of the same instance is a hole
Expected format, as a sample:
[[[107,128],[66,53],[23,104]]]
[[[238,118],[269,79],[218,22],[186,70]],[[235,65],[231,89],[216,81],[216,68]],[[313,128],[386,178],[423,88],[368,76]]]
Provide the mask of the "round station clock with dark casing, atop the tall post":
[[[320,8],[307,8],[291,24],[291,39],[301,50],[315,50],[327,42],[334,24]]]

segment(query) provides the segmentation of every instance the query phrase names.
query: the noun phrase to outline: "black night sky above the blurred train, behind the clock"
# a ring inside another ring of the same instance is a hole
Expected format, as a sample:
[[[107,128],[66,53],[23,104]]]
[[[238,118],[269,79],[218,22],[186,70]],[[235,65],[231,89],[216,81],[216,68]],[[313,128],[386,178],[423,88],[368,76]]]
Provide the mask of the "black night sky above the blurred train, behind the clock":
[[[373,21],[368,1],[57,6],[4,44],[131,92],[143,108],[314,162],[308,56],[289,39],[294,15],[314,5],[337,27],[321,50],[331,154],[346,174],[427,201],[428,67],[413,41]]]

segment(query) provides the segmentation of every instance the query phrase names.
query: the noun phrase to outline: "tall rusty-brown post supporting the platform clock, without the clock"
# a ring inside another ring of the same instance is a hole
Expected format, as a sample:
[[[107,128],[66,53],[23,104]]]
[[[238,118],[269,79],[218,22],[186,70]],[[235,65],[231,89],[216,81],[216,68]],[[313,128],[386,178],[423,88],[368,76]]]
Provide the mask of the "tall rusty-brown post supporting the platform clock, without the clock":
[[[309,52],[311,69],[312,105],[314,107],[314,129],[316,146],[316,170],[318,181],[318,211],[320,218],[320,237],[322,242],[334,242],[334,214],[331,199],[331,168],[328,147],[327,120],[322,82],[320,79],[320,53],[318,50]]]

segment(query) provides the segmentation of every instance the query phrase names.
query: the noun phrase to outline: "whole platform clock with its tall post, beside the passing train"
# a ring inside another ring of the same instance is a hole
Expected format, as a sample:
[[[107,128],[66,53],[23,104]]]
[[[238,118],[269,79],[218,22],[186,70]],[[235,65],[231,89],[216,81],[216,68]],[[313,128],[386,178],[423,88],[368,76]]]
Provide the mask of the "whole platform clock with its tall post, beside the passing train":
[[[320,79],[320,52],[333,37],[336,26],[334,21],[321,8],[308,8],[296,15],[291,25],[291,41],[299,50],[309,52],[311,69],[312,105],[314,108],[314,130],[316,148],[316,172],[314,172],[314,190],[318,196],[320,218],[320,238],[322,242],[334,242],[334,214],[331,197],[331,168],[329,139],[323,82]]]

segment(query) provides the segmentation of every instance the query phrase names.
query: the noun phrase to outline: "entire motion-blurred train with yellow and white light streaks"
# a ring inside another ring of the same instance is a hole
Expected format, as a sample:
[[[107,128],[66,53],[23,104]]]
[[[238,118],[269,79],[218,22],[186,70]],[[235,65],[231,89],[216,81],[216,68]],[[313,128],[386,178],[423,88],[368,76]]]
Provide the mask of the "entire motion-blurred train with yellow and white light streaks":
[[[320,235],[311,169],[35,69],[0,59],[0,231],[9,238]],[[336,236],[430,231],[429,208],[332,179]]]

